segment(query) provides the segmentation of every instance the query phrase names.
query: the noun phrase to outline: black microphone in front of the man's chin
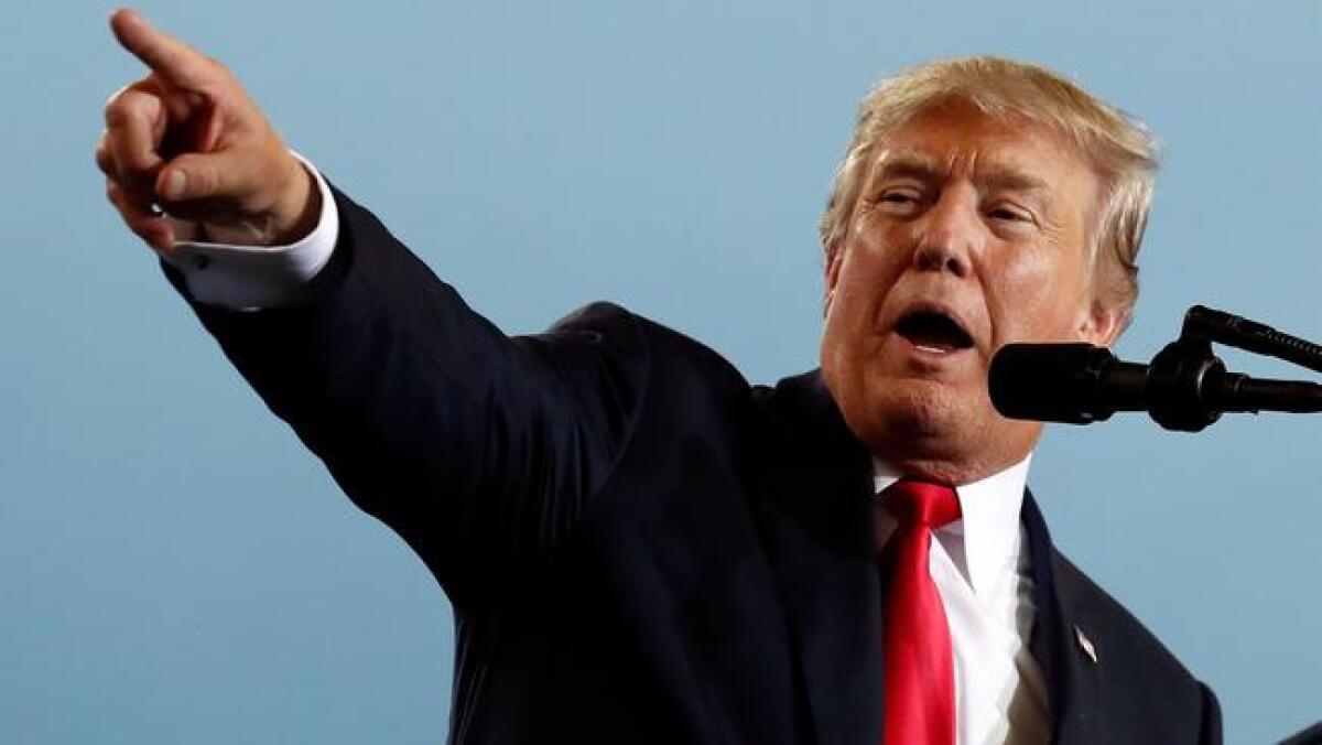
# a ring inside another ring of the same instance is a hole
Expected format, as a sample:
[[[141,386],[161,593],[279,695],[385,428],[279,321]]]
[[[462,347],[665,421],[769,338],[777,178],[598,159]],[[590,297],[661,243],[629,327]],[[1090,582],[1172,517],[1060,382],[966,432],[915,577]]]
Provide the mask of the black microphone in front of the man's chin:
[[[1224,412],[1322,412],[1322,385],[1227,372],[1199,340],[1169,345],[1150,365],[1092,344],[1006,344],[988,388],[1005,417],[1072,425],[1147,412],[1166,429],[1198,431]]]

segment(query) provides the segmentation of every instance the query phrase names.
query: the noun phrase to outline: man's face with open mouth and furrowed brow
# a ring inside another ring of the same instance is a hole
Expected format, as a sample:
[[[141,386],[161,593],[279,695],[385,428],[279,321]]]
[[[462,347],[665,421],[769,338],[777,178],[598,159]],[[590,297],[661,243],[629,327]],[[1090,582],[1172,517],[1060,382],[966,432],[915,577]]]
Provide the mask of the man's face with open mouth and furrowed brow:
[[[1040,425],[986,392],[1007,341],[1110,344],[1087,245],[1100,184],[1067,143],[966,103],[884,138],[826,267],[822,373],[873,453],[968,483],[1029,454]]]

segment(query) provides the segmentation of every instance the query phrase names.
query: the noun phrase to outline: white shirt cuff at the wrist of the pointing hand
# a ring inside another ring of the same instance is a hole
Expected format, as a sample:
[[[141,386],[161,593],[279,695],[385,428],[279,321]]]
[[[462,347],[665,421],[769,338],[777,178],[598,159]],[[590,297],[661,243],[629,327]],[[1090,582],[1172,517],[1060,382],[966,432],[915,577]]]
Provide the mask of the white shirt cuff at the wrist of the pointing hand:
[[[330,261],[340,237],[340,213],[330,187],[312,163],[299,153],[321,193],[317,226],[303,240],[287,246],[233,246],[200,241],[178,241],[159,253],[184,275],[189,294],[200,303],[235,311],[255,311],[292,306],[303,288]]]

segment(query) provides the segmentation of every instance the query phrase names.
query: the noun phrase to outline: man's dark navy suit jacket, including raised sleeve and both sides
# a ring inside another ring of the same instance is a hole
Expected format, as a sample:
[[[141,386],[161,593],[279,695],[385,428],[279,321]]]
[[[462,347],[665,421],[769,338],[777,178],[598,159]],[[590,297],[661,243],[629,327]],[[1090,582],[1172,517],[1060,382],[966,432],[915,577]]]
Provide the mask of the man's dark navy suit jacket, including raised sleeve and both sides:
[[[611,304],[506,337],[336,198],[303,304],[193,307],[449,595],[451,740],[875,745],[871,462],[820,377],[750,386]],[[1052,548],[1031,496],[1023,523],[1058,740],[1219,741],[1211,692]]]

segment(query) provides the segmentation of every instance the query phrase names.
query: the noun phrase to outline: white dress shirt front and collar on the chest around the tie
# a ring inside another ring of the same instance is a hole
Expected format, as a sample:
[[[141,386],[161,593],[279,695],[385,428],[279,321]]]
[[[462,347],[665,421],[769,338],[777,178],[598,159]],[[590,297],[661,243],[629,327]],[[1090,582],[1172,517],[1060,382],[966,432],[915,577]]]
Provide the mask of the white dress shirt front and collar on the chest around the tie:
[[[933,533],[929,570],[951,625],[958,745],[1051,738],[1042,670],[1029,650],[1036,607],[1019,508],[1030,460],[954,487],[961,517]],[[902,476],[879,460],[874,472],[878,494]],[[878,509],[884,545],[896,520],[882,500]]]

